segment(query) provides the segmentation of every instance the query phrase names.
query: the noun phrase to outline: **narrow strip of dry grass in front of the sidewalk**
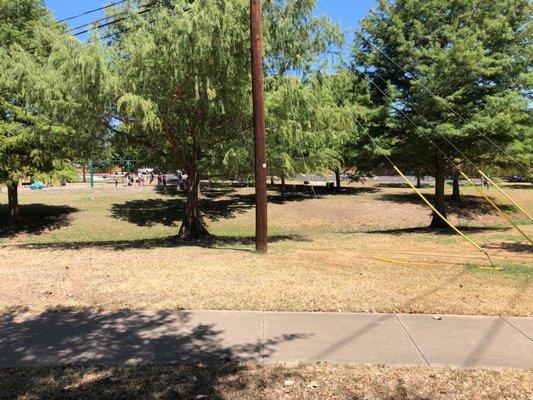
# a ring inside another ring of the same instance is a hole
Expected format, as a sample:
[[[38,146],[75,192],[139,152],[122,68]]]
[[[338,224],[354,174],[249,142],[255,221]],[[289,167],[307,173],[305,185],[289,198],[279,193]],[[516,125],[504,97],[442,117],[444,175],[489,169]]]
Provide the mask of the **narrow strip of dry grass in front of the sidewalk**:
[[[0,398],[531,399],[533,372],[380,366],[121,366],[0,370]]]

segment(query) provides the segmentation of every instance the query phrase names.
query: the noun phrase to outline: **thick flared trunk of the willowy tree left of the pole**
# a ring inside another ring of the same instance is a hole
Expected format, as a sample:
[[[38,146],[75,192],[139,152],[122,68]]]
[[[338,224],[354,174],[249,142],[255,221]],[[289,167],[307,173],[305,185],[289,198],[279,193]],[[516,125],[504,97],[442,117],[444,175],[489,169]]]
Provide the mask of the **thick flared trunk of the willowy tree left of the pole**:
[[[187,180],[185,191],[187,193],[187,206],[183,222],[181,223],[180,239],[201,239],[209,236],[209,232],[203,224],[198,207],[198,196],[200,192],[200,174],[196,166],[186,169]]]

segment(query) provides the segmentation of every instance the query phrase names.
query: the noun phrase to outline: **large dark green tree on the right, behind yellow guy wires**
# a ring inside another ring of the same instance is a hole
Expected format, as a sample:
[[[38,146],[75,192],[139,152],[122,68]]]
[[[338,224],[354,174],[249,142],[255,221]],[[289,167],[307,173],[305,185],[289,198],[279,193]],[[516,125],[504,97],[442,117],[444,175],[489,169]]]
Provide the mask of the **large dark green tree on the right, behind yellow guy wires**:
[[[392,159],[433,171],[443,215],[448,159],[488,165],[501,159],[489,140],[509,152],[528,140],[530,15],[526,0],[380,0],[362,22],[354,67],[391,94],[396,126],[382,137],[395,144]],[[374,89],[377,104],[383,97]],[[446,224],[434,214],[431,225]]]

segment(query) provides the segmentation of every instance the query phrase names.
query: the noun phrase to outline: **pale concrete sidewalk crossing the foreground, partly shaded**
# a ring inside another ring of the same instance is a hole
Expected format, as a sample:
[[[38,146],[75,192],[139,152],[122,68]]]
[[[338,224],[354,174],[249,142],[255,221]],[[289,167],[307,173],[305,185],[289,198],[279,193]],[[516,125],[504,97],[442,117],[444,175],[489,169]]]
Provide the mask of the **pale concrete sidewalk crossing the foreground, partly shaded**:
[[[0,367],[316,362],[533,368],[533,318],[222,311],[0,317]]]

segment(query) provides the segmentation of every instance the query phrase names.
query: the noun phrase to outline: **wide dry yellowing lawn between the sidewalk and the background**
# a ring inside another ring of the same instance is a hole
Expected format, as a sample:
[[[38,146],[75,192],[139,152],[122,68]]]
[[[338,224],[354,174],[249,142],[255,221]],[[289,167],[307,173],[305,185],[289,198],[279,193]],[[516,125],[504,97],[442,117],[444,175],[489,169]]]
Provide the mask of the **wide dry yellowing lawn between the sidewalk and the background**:
[[[0,225],[0,311],[246,309],[533,315],[531,246],[464,188],[452,220],[502,271],[457,235],[430,231],[408,189],[309,187],[271,192],[271,246],[253,252],[253,191],[205,189],[213,240],[177,243],[183,199],[153,188],[24,190],[18,226]],[[424,189],[430,193],[431,189]],[[530,186],[508,192],[533,209]],[[505,204],[494,189],[489,194]],[[0,198],[6,201],[5,194]],[[40,204],[40,205],[36,205]],[[0,204],[0,212],[5,204]],[[507,207],[512,210],[512,208]],[[533,225],[513,215],[533,235]],[[405,263],[391,263],[392,258]]]

